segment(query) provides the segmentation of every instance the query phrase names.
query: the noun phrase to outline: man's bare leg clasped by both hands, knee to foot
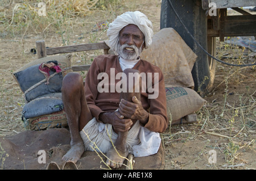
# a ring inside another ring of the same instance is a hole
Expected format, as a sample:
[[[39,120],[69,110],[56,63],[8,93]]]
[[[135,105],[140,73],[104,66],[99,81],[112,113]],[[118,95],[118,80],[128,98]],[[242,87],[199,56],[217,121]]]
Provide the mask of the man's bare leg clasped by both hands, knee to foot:
[[[134,70],[134,69],[125,69],[125,70],[123,70],[123,73],[125,73],[126,77],[127,77],[127,92],[121,92],[120,100],[125,99],[130,102],[133,102],[131,100],[133,98],[133,96],[136,96],[138,100],[141,100],[141,92],[140,92],[141,91],[141,82],[139,81],[139,77],[137,77],[138,79],[129,77],[129,73],[139,73],[139,71]],[[129,78],[134,79],[134,81],[133,81],[134,85],[132,86],[133,90],[129,90]],[[139,86],[139,92],[135,92],[136,86]],[[134,124],[137,120],[132,120],[132,121]],[[118,132],[117,140],[114,143],[115,149],[117,149],[117,150],[112,148],[108,151],[108,153],[106,154],[106,156],[109,158],[108,161],[106,162],[107,165],[109,165],[113,168],[116,168],[116,169],[118,169],[119,167],[122,166],[123,161],[125,161],[125,158],[129,154],[126,149],[127,134],[128,134],[128,131]],[[118,153],[117,153],[117,151],[118,151]]]

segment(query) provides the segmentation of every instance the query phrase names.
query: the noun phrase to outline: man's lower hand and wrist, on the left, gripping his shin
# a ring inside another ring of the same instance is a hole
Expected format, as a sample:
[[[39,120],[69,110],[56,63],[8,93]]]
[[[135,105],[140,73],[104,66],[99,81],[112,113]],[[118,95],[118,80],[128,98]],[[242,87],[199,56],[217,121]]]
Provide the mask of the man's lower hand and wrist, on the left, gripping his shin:
[[[131,119],[123,119],[124,116],[118,111],[100,113],[99,119],[103,123],[112,124],[116,133],[129,131],[133,121]]]

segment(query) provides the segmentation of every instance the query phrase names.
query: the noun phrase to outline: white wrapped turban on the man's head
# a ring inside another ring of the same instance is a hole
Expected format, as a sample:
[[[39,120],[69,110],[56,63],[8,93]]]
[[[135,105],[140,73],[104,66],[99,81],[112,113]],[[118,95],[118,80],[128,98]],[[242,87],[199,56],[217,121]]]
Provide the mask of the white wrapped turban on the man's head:
[[[148,20],[147,16],[140,11],[128,11],[123,13],[120,16],[117,16],[117,19],[114,22],[109,24],[109,29],[107,35],[109,36],[109,46],[115,52],[117,52],[118,42],[119,42],[119,32],[123,27],[128,24],[135,24],[139,27],[139,30],[142,31],[145,40],[145,49],[150,47],[152,43],[152,37],[154,32],[152,30],[152,23]]]

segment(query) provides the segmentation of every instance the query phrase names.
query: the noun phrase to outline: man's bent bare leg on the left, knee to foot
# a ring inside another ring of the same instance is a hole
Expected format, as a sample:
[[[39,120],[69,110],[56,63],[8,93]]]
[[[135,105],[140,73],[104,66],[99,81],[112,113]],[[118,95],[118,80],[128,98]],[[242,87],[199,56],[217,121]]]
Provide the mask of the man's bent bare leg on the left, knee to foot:
[[[71,133],[71,149],[63,156],[62,160],[76,163],[84,153],[84,142],[79,132],[93,118],[85,100],[81,75],[68,73],[63,79],[61,92]]]

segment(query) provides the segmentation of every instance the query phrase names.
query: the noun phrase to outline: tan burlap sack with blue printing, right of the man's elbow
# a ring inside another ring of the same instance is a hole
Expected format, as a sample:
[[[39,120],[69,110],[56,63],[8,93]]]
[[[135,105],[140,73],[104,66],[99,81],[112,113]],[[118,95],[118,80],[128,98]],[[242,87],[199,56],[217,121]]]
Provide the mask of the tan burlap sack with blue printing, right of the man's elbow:
[[[169,121],[199,111],[206,103],[196,91],[187,87],[166,87],[166,100]]]

